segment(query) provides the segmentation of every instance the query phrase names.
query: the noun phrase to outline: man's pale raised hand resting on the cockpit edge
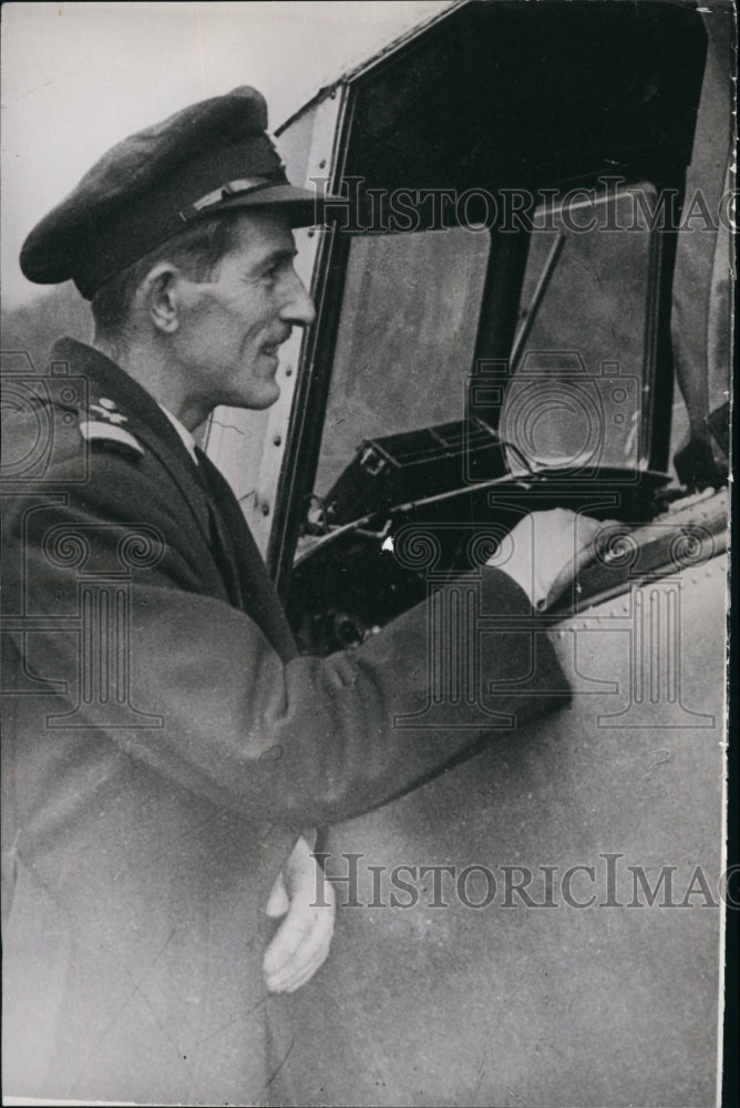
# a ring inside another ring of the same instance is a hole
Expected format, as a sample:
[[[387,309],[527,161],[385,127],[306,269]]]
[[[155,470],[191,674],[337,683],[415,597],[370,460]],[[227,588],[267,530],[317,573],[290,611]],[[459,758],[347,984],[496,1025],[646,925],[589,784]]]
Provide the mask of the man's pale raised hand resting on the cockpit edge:
[[[489,565],[500,566],[521,585],[533,608],[545,608],[594,556],[594,540],[605,526],[588,515],[565,507],[533,512],[512,530],[512,557],[501,563],[499,553]]]

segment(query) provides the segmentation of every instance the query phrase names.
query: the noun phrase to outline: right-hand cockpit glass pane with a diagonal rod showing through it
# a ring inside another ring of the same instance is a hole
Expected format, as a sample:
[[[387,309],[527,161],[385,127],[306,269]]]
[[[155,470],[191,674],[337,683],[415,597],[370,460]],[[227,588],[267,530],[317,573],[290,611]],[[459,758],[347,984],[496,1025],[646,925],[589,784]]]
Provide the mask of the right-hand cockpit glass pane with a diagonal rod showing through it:
[[[647,465],[655,189],[538,209],[499,431],[511,465]]]

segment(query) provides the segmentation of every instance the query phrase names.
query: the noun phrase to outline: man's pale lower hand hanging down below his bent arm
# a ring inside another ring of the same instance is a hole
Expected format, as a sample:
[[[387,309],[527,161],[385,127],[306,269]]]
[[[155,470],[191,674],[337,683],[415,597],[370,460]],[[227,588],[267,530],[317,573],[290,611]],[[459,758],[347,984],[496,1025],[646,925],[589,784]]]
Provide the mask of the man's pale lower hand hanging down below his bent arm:
[[[285,920],[265,951],[265,981],[270,993],[292,993],[323,963],[335,930],[333,888],[304,838],[273,885],[266,912]]]

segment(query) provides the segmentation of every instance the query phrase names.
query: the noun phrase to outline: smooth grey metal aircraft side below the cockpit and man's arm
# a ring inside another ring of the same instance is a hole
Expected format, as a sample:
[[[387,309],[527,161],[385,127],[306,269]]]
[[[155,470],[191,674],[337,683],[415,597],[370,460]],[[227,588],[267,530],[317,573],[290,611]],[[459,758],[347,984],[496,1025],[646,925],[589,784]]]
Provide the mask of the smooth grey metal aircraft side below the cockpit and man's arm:
[[[569,708],[331,830],[332,957],[280,1008],[304,1102],[713,1100],[726,573],[566,620]]]

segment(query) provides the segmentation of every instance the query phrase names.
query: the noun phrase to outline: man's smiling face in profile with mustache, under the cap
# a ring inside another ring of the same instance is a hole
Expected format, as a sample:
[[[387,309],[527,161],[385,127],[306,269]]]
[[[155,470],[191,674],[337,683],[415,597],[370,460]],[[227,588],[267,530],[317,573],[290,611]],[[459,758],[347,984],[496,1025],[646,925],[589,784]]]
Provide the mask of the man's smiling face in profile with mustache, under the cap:
[[[278,347],[314,321],[296,270],[287,216],[239,216],[232,247],[205,283],[181,284],[178,360],[193,399],[215,408],[269,408],[280,394]]]

